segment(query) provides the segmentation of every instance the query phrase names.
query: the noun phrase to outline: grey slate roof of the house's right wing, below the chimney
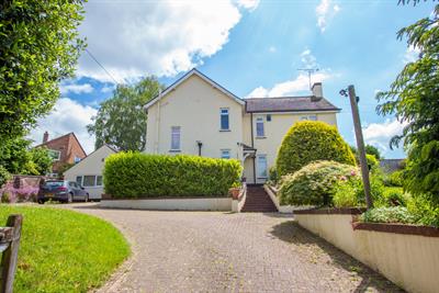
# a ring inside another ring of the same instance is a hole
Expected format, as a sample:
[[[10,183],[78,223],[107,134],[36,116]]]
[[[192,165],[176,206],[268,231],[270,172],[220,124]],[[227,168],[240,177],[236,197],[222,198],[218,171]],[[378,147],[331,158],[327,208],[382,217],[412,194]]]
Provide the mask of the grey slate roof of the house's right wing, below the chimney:
[[[315,101],[312,95],[307,97],[282,97],[282,98],[248,98],[246,112],[307,112],[307,111],[340,111],[325,98]]]

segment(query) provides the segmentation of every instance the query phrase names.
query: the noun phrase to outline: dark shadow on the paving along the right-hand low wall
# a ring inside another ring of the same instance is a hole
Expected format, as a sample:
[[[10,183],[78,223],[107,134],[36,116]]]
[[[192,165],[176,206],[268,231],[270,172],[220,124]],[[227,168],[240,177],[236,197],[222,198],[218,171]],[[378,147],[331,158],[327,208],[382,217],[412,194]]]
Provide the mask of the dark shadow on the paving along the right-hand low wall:
[[[300,251],[301,247],[306,247],[307,249],[303,251],[307,251],[309,261],[316,264],[327,261],[324,258],[329,257],[333,266],[351,272],[353,278],[361,278],[361,283],[353,292],[368,292],[368,289],[373,289],[378,292],[405,292],[380,273],[348,256],[325,239],[301,227],[295,221],[282,222],[273,226],[270,233],[272,236],[299,247]]]

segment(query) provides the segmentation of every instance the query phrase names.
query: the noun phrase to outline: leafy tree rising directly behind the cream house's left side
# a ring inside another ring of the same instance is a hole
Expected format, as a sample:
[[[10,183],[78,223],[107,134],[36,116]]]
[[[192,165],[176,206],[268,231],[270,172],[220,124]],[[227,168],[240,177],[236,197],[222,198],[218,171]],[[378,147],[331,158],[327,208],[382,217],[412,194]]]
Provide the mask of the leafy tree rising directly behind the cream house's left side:
[[[101,103],[93,124],[87,126],[95,135],[95,148],[109,144],[120,150],[144,150],[147,115],[143,106],[161,89],[155,77],[117,86],[113,97]]]

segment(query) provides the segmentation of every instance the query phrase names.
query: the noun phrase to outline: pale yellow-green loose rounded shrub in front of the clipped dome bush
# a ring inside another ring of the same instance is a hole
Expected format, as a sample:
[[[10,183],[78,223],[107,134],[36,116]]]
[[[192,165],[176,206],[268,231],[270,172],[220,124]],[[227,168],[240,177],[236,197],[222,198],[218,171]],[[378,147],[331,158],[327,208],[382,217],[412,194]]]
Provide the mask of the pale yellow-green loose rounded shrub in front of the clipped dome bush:
[[[353,166],[336,161],[315,161],[282,178],[279,191],[282,204],[329,204],[337,182],[358,178]]]

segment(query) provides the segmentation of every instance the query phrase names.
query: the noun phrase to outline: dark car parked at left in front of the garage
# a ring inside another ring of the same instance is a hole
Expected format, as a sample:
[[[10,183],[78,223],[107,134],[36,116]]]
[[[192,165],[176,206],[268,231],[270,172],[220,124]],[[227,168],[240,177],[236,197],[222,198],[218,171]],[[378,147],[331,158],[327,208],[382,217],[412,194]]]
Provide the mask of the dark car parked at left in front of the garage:
[[[89,193],[81,185],[67,180],[48,180],[40,187],[38,203],[46,201],[71,203],[74,201],[89,201]]]

